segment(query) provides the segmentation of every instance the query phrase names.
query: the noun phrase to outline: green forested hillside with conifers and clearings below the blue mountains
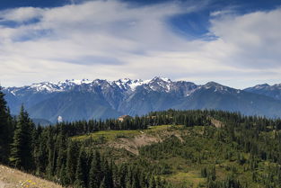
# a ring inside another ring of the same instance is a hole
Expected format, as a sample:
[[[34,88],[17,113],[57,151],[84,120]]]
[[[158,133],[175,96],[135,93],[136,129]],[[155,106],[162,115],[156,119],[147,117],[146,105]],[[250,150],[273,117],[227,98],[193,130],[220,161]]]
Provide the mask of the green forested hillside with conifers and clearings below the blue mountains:
[[[70,187],[281,187],[280,130],[279,119],[174,110],[41,127],[23,107],[12,117],[0,93],[0,163]]]

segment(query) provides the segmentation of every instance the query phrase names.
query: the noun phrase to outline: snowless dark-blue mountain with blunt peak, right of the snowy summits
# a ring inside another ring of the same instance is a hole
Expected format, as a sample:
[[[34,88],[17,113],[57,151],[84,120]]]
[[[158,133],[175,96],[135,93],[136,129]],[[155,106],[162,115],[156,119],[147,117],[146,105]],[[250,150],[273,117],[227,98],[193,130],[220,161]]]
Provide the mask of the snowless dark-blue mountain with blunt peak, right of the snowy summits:
[[[280,117],[281,103],[271,97],[207,83],[185,100],[179,109],[215,109],[245,115]]]

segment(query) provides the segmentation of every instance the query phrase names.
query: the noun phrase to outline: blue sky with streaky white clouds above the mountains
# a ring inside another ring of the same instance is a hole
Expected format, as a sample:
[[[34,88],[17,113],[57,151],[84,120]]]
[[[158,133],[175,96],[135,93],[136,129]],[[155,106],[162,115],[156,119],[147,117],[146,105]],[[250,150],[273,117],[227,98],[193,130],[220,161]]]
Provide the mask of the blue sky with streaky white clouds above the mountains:
[[[281,83],[280,0],[1,0],[0,83]]]

